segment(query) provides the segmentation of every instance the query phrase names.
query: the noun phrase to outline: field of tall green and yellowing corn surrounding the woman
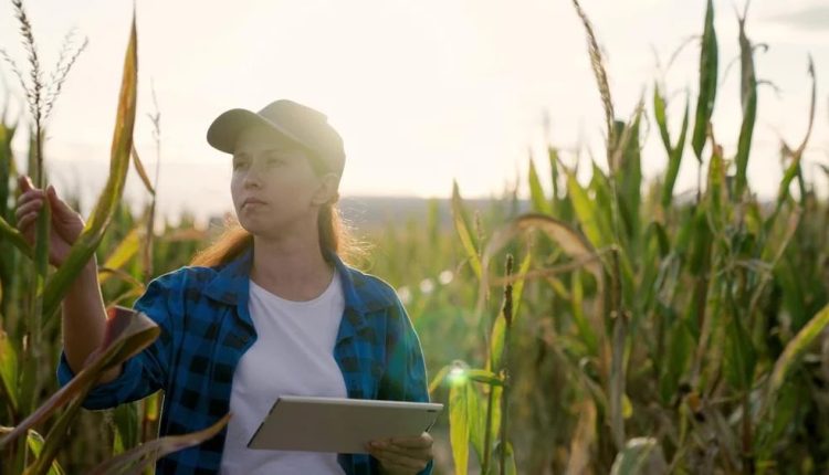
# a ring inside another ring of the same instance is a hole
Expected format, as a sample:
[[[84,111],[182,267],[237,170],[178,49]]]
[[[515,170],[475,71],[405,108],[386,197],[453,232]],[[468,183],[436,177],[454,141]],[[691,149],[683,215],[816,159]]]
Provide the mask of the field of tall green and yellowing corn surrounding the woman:
[[[817,72],[809,64],[804,139],[781,144],[777,196],[759,200],[747,179],[762,86],[747,7],[737,18],[742,127],[731,140],[736,148],[726,149],[714,114],[725,52],[711,0],[693,43],[695,96],[682,97],[678,117],[668,116],[675,96],[661,81],[634,110],[616,110],[600,32],[573,3],[605,112],[601,160],[574,167],[549,144],[548,177],[529,161],[528,212],[517,189],[472,209],[455,186],[451,226],[432,202],[424,222],[361,230],[372,247],[356,264],[398,288],[423,346],[432,400],[447,404],[436,444],[449,455],[436,461],[436,473],[829,472],[829,203],[802,172],[812,128],[826,126],[816,117]],[[161,394],[80,410],[99,373],[158,336],[128,310],[132,303],[212,238],[188,219],[160,232],[155,225],[157,173],[154,181],[133,146],[136,45],[133,25],[109,178],[59,270],[49,266],[43,239],[49,213],[34,247],[14,228],[18,178],[48,183],[39,137],[52,103],[40,96],[57,94],[40,94],[49,85],[20,73],[32,117],[0,126],[0,473],[144,473],[227,422],[157,439]],[[67,62],[66,72],[71,54]],[[642,179],[646,129],[664,149],[665,171],[651,182]],[[14,157],[15,134],[32,137],[28,157]],[[697,187],[678,197],[683,160],[699,169]],[[579,166],[590,168],[589,180],[577,179]],[[137,217],[122,200],[130,167],[151,198]],[[108,337],[59,389],[61,299],[93,255]]]

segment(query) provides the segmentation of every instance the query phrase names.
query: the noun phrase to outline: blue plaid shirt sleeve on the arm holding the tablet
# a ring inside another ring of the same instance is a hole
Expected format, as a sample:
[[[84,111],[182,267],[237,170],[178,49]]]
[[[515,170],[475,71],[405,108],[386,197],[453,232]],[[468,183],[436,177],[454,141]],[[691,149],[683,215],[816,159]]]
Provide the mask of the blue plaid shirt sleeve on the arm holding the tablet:
[[[430,402],[429,382],[420,338],[409,315],[395,295],[386,335],[386,371],[380,380],[378,399],[392,401]],[[377,461],[371,457],[372,463]],[[430,475],[434,461],[418,473]],[[377,472],[379,473],[379,472]]]

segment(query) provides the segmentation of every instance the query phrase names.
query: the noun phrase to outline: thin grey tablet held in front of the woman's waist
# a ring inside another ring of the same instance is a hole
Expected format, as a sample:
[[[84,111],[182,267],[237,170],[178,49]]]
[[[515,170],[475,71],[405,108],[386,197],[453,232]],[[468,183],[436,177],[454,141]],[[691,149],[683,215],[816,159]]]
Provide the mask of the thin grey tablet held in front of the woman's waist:
[[[442,410],[427,402],[282,395],[248,447],[366,454],[370,441],[429,431]]]

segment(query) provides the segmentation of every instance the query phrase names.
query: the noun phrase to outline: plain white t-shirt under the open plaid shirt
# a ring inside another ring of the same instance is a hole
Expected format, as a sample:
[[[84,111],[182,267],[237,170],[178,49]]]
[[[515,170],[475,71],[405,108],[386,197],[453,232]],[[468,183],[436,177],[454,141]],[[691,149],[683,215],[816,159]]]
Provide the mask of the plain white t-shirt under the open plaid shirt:
[[[248,303],[256,341],[233,373],[220,473],[343,474],[337,454],[248,448],[248,442],[282,394],[346,398],[334,344],[345,309],[339,276],[316,298],[293,302],[250,282]]]

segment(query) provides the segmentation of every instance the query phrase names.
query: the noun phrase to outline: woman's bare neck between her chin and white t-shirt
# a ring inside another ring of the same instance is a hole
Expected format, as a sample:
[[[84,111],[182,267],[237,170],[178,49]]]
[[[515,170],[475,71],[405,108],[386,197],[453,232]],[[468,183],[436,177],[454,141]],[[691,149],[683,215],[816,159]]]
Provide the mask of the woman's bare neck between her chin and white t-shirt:
[[[253,236],[251,278],[283,298],[307,300],[318,296],[330,283],[333,272],[316,233],[313,239]]]

